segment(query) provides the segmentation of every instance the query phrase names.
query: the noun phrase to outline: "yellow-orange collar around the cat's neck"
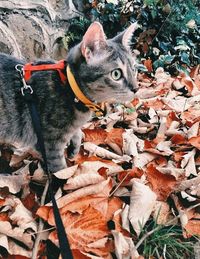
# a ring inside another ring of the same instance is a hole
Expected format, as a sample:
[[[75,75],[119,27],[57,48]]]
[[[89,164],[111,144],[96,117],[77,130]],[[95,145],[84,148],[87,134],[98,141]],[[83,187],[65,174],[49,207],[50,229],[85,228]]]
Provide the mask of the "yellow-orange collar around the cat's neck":
[[[98,104],[95,104],[92,101],[90,101],[81,91],[81,89],[79,88],[76,82],[76,79],[74,78],[74,75],[71,72],[69,65],[67,66],[66,71],[67,71],[67,79],[68,79],[69,85],[72,91],[74,92],[76,98],[79,101],[81,101],[86,107],[88,107],[90,110],[95,112],[96,116],[98,117],[103,116],[104,111],[101,109],[101,107]]]

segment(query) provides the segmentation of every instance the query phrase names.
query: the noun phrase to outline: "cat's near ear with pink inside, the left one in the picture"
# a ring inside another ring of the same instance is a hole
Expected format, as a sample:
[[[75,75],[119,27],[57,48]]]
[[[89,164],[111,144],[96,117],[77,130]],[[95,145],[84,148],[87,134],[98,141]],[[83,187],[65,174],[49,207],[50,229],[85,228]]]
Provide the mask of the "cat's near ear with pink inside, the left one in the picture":
[[[81,53],[88,62],[95,51],[105,48],[106,36],[102,25],[99,22],[93,22],[87,29],[81,42]]]

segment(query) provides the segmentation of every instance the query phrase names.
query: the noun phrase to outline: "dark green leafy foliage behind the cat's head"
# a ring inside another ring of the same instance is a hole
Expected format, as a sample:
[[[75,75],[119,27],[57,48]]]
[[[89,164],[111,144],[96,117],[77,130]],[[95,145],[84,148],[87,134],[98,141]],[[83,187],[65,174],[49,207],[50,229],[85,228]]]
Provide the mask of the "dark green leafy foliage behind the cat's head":
[[[66,34],[68,47],[79,42],[91,21],[103,24],[108,38],[124,30],[130,22],[141,27],[132,47],[139,59],[150,58],[153,68],[177,73],[200,63],[199,0],[88,0],[84,17],[71,20]]]

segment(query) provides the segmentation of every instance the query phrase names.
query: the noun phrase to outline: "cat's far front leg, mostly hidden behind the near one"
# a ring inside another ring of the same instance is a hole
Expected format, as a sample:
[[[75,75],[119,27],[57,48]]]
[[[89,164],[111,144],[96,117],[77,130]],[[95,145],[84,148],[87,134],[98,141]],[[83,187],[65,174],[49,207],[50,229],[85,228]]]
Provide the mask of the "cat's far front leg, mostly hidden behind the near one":
[[[75,134],[72,136],[69,146],[67,148],[67,156],[69,158],[72,158],[76,154],[78,154],[81,146],[81,140],[82,140],[83,132],[81,129],[78,129]]]

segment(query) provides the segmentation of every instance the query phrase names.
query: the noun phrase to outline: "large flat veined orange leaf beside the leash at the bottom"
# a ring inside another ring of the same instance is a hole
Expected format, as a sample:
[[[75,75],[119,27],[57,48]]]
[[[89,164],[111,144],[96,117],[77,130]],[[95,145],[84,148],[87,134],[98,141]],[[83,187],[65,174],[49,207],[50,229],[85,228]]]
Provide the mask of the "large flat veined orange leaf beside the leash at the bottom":
[[[106,218],[96,209],[89,206],[82,214],[67,212],[62,220],[71,249],[91,252],[103,258],[112,251],[109,242],[104,247],[89,247],[89,244],[110,235]],[[49,239],[58,244],[55,231],[50,234]]]

